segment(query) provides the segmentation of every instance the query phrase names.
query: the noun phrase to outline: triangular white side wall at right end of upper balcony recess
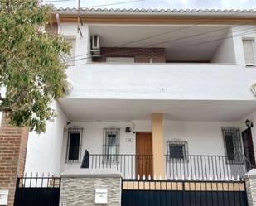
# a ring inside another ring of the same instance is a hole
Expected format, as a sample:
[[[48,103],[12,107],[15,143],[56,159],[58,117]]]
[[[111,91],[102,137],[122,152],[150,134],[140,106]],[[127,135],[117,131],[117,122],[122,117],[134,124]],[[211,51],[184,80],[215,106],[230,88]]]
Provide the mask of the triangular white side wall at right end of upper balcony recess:
[[[212,63],[226,63],[226,64],[235,64],[235,55],[234,55],[234,41],[232,38],[232,30],[230,29],[225,39],[222,40],[220,46],[215,51],[213,56]]]

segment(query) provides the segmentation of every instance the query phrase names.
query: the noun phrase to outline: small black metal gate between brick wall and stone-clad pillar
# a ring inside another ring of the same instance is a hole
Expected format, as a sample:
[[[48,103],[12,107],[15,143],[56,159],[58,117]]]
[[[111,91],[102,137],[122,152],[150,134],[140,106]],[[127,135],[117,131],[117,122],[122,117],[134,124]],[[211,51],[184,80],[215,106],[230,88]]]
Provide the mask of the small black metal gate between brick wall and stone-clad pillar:
[[[14,206],[59,206],[59,177],[17,177]]]

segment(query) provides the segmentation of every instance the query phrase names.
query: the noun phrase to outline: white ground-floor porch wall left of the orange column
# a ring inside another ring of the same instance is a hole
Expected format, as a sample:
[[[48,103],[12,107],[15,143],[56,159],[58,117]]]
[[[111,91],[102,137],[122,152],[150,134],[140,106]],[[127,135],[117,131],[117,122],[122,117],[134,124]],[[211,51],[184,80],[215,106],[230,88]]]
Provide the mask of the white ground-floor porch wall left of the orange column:
[[[135,133],[133,133],[133,123],[136,132],[151,132],[150,121],[120,121],[120,122],[72,122],[69,127],[83,128],[81,159],[85,150],[90,154],[102,154],[103,151],[103,130],[105,127],[120,128],[120,154],[135,155]],[[125,132],[126,127],[131,127],[132,132]],[[63,151],[61,157],[61,171],[70,168],[80,168],[80,164],[65,164],[68,134],[63,137]],[[128,141],[129,140],[129,141]]]

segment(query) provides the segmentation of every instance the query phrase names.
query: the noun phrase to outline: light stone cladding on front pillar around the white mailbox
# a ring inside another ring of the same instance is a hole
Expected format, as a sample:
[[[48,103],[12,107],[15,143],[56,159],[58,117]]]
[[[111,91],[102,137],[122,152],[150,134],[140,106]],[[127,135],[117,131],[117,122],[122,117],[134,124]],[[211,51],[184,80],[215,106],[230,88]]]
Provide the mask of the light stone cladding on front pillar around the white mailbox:
[[[60,204],[68,206],[95,206],[95,189],[108,189],[109,206],[121,205],[120,177],[61,178]]]

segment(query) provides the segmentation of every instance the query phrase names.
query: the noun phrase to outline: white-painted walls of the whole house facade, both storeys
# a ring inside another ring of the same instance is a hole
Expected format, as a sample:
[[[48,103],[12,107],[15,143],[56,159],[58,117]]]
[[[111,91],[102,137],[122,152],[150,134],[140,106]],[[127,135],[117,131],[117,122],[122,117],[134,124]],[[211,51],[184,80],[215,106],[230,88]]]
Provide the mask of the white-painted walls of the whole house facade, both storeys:
[[[240,26],[239,30],[250,27]],[[210,52],[214,53],[212,64],[88,64],[91,28],[80,26],[80,36],[77,24],[60,22],[60,34],[76,39],[77,60],[67,70],[73,90],[60,99],[60,106],[54,103],[58,116],[55,122],[47,122],[46,133],[30,134],[25,169],[28,173],[60,175],[66,170],[80,170],[80,164],[65,163],[65,124],[69,120],[76,120],[70,126],[84,129],[81,156],[85,150],[102,154],[103,129],[113,126],[121,128],[120,153],[135,154],[135,134],[125,132],[125,127],[133,128],[134,124],[135,132],[151,132],[150,113],[164,113],[164,153],[167,140],[181,139],[188,141],[191,155],[225,155],[220,127],[244,129],[246,118],[256,124],[256,112],[251,113],[256,107],[255,97],[250,91],[256,69],[245,67],[242,45],[242,38],[256,37],[253,33],[234,36],[236,28],[230,28],[217,50]],[[104,121],[95,122],[97,117]],[[252,132],[255,149],[256,127]]]

